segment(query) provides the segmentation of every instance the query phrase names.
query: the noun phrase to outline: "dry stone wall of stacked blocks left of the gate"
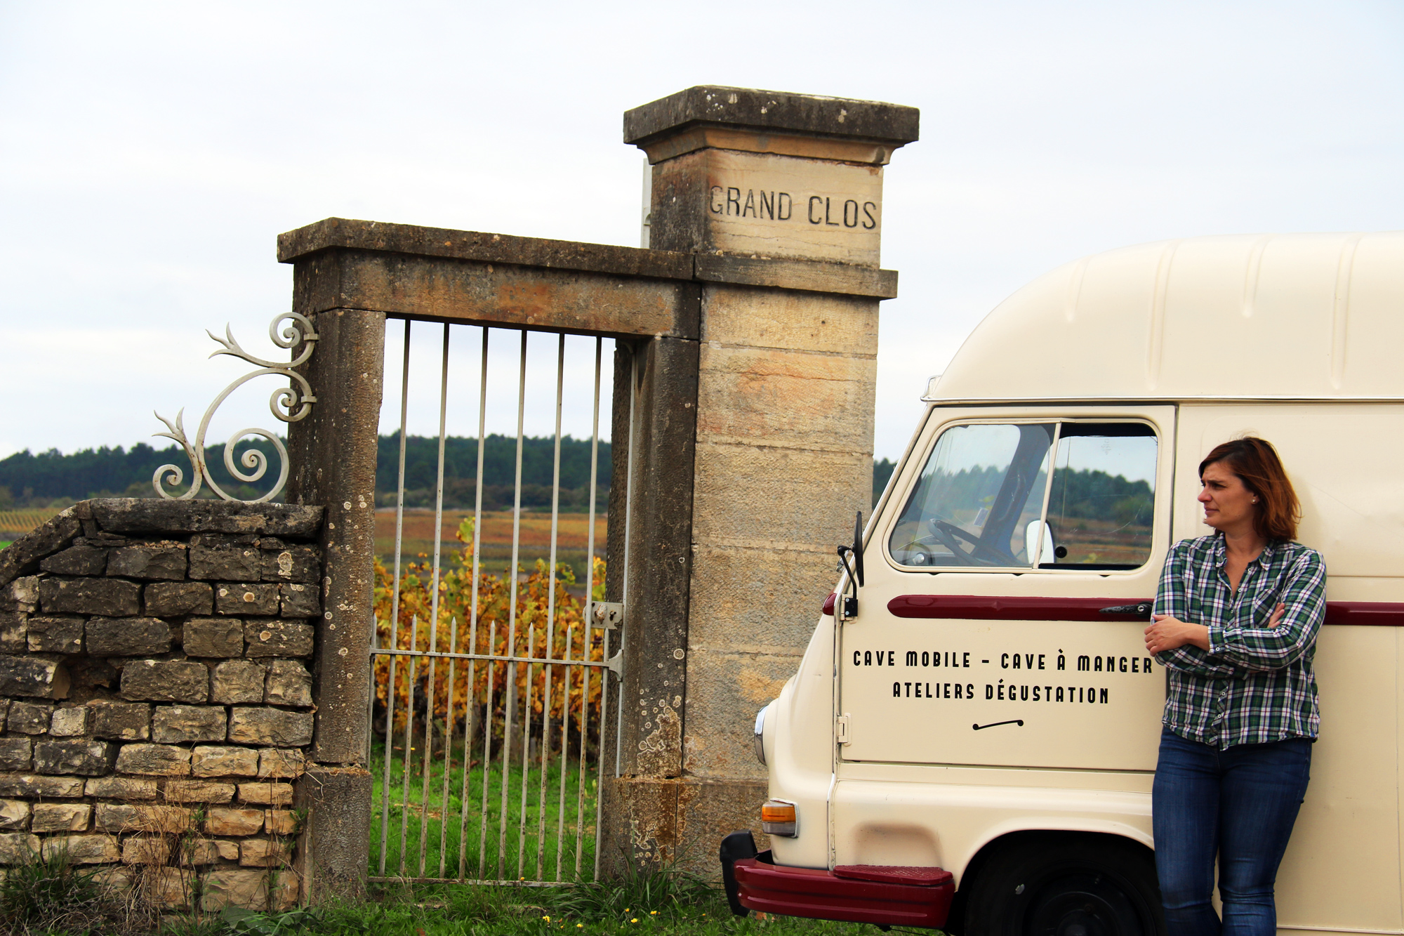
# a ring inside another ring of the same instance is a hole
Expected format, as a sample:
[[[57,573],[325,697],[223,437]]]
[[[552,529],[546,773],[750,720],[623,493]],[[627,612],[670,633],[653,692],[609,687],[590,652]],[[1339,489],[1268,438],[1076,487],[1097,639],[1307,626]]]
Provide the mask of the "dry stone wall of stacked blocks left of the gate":
[[[320,507],[86,500],[0,551],[0,864],[286,906]]]

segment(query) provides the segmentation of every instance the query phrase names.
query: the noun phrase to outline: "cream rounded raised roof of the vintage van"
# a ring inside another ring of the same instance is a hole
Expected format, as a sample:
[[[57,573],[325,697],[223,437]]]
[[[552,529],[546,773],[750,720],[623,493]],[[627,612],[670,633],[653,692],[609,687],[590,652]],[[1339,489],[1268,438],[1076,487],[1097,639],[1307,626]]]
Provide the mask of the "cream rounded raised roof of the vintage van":
[[[1039,277],[924,399],[1404,399],[1404,232],[1186,238]]]

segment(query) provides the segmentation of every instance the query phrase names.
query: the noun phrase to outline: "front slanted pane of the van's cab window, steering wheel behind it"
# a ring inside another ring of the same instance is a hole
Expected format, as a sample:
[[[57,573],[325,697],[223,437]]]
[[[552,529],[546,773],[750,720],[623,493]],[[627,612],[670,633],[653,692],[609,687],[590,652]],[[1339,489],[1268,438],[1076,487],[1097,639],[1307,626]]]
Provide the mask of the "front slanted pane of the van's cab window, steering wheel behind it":
[[[887,548],[901,565],[1031,566],[1056,423],[952,426],[941,433]]]

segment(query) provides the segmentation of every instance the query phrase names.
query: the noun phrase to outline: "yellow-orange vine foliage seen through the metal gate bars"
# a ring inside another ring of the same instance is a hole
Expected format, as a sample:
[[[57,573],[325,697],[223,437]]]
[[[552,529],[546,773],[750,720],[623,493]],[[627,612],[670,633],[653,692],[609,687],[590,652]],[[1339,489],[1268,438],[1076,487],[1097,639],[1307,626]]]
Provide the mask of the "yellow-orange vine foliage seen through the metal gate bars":
[[[562,662],[604,659],[605,631],[584,627],[584,607],[567,589],[576,583],[569,565],[559,565],[553,576],[546,562],[538,559],[529,575],[518,575],[515,613],[512,589],[500,576],[479,572],[476,616],[473,614],[473,520],[458,528],[465,547],[441,564],[438,582],[438,618],[434,620],[434,571],[430,562],[403,566],[399,590],[399,621],[392,627],[395,575],[379,558],[375,561],[376,646],[505,659],[425,659],[411,656],[375,656],[375,696],[380,706],[393,698],[393,731],[403,731],[407,713],[416,713],[416,734],[432,706],[434,721],[449,721],[452,734],[482,739],[483,715],[496,735],[501,734],[505,708],[515,703],[512,734],[522,731],[524,706],[531,720],[529,731],[541,734],[542,717],[549,715],[550,743],[559,745],[562,718],[569,718],[576,732],[598,731],[602,697],[602,668],[563,666]],[[519,569],[521,571],[521,569]],[[594,600],[604,600],[605,562],[595,558],[591,575]],[[555,604],[552,604],[555,590]],[[521,659],[526,658],[526,659]],[[393,662],[392,662],[393,661]],[[559,662],[531,662],[559,661]],[[393,669],[393,686],[392,686]],[[508,684],[514,690],[508,690]],[[413,698],[411,698],[413,691]],[[578,735],[577,735],[578,736]]]

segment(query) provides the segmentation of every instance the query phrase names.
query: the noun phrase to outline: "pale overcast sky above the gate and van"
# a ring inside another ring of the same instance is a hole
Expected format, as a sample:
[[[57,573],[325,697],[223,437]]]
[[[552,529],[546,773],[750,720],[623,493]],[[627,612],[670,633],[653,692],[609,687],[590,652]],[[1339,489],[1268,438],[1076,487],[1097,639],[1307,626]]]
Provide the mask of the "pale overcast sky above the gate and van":
[[[275,236],[326,216],[637,246],[623,111],[694,84],[921,108],[886,170],[875,453],[1001,299],[1168,238],[1404,226],[1404,4],[20,3],[0,0],[0,457],[132,446],[285,357]],[[402,325],[382,430],[399,424]],[[487,429],[515,431],[497,334]],[[407,423],[439,420],[442,329],[411,342]],[[608,344],[608,343],[607,343]],[[476,433],[480,333],[453,329],[451,434]],[[529,434],[556,339],[532,339]],[[594,344],[567,342],[564,431]],[[604,349],[608,388],[608,347]],[[498,378],[497,374],[501,374]],[[208,440],[284,430],[274,378]],[[505,386],[501,392],[498,388]]]

